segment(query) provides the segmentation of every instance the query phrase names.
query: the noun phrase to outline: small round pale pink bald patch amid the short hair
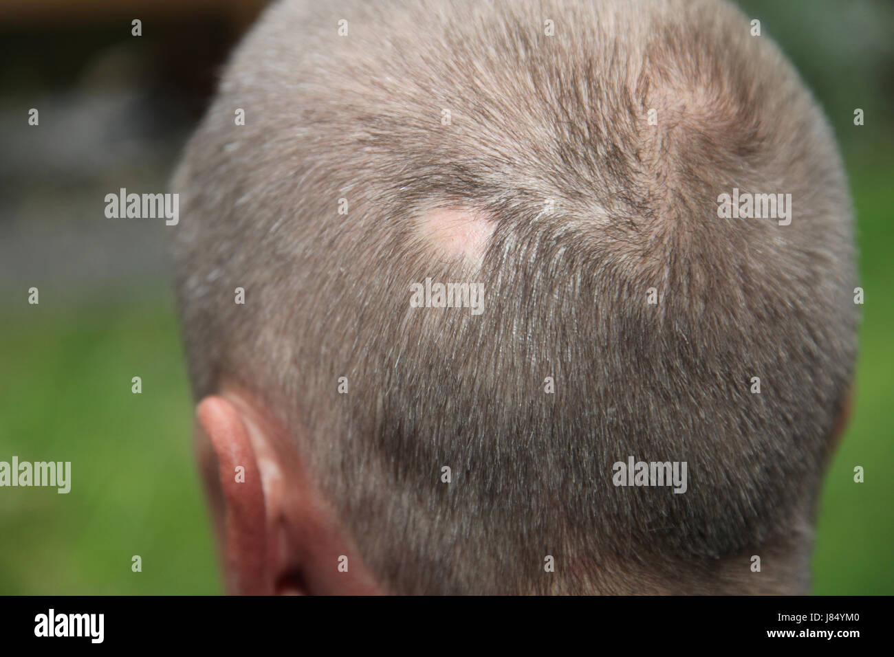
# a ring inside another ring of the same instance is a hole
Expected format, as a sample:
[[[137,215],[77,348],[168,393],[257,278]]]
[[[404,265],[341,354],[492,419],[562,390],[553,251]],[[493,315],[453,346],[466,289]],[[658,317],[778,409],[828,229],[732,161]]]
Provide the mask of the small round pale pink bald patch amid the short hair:
[[[496,225],[487,213],[442,207],[421,215],[417,231],[441,260],[461,258],[470,265],[480,265]]]

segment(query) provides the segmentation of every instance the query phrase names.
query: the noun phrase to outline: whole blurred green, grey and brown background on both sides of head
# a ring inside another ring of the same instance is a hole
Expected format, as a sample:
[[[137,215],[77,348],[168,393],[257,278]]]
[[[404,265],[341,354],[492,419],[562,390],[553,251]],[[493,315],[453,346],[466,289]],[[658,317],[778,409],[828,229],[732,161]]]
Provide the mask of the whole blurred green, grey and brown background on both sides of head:
[[[0,490],[0,594],[221,593],[165,226],[104,222],[97,199],[164,189],[216,67],[263,3],[89,0],[50,21],[39,4],[0,3],[0,459],[72,461],[72,492]],[[825,107],[858,219],[856,405],[822,494],[814,593],[892,594],[894,4],[739,4]],[[139,41],[134,15],[146,17]]]

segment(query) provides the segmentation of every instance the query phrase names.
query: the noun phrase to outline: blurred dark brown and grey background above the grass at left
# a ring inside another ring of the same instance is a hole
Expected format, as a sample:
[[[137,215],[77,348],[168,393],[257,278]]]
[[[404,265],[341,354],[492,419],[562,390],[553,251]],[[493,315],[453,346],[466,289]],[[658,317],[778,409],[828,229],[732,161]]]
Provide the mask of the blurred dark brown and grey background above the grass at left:
[[[163,233],[110,222],[102,199],[166,188],[227,55],[266,4],[0,0],[0,288],[166,280]]]

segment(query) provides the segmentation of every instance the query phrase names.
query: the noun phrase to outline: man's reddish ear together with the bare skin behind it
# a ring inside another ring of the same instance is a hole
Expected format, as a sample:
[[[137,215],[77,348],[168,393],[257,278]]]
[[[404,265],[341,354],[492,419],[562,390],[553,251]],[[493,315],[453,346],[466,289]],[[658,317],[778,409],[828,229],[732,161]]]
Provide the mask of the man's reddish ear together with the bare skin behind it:
[[[232,594],[380,592],[297,448],[242,395],[202,400],[198,459]]]

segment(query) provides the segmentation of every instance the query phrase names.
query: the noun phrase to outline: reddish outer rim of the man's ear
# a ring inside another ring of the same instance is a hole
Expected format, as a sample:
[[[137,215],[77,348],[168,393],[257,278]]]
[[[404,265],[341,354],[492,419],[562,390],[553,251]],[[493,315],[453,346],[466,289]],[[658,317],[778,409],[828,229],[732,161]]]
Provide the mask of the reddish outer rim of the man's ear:
[[[211,396],[196,409],[216,456],[223,494],[223,559],[230,592],[274,593],[264,484],[249,427],[229,400]]]

